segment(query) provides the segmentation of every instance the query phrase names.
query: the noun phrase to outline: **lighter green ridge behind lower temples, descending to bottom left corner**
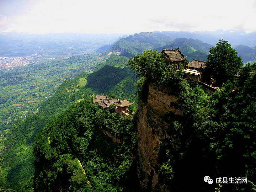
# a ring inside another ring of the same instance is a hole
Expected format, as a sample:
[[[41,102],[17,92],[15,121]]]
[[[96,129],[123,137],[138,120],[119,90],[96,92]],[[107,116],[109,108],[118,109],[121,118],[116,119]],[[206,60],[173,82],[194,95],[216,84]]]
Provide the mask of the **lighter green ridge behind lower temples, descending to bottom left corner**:
[[[79,103],[84,99],[91,98],[92,95],[96,94],[108,94],[112,97],[118,97],[120,99],[129,98],[131,102],[137,102],[138,97],[135,95],[135,92],[137,91],[135,85],[135,74],[127,67],[114,67],[115,65],[119,65],[116,60],[123,61],[123,65],[124,61],[127,61],[126,58],[123,60],[122,57],[115,57],[113,55],[109,58],[109,60],[107,59],[106,61],[107,64],[112,66],[103,64],[103,68],[101,69],[98,67],[100,70],[96,71],[95,73],[89,74],[84,72],[76,76],[74,79],[66,79],[63,84],[59,86],[57,92],[55,92],[52,97],[41,104],[37,116],[28,116],[24,121],[21,119],[17,120],[17,123],[7,130],[9,131],[10,135],[7,135],[5,132],[2,133],[5,135],[5,137],[2,138],[1,136],[1,145],[3,150],[1,151],[2,159],[0,167],[0,185],[17,190],[19,187],[21,187],[22,183],[25,182],[30,186],[30,188],[32,188],[33,181],[28,179],[32,178],[34,172],[32,163],[33,142],[27,143],[26,140],[29,135],[33,135],[34,137],[38,130],[32,130],[30,128],[30,124],[27,124],[28,122],[31,121],[36,123],[37,118],[42,119],[42,121],[45,123],[50,122],[52,119],[62,114],[67,108],[74,105],[74,103]],[[116,70],[118,70],[121,74],[126,75],[126,78],[116,78],[115,80]],[[95,80],[98,82],[97,85],[104,85],[110,77],[113,77],[111,89],[99,90],[96,85],[93,86],[93,82]],[[87,78],[89,79],[87,80]],[[86,86],[88,82],[91,87]],[[136,107],[136,105],[134,107]],[[26,132],[24,132],[26,135],[23,135],[22,132],[18,130],[26,130]],[[16,140],[15,138],[18,139]],[[10,140],[12,141],[12,145],[9,145]],[[22,140],[22,142],[20,140]],[[9,152],[6,153],[6,151]],[[12,158],[10,153],[15,156],[15,158]],[[14,177],[14,174],[16,174],[16,177]]]

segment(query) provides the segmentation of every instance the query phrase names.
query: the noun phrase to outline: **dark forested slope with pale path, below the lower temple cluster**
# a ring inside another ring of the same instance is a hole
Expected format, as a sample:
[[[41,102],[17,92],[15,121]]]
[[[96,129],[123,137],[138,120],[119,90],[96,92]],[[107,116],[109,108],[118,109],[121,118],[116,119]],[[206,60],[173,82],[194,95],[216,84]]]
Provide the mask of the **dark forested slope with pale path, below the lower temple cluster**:
[[[117,192],[136,188],[135,172],[131,174],[136,170],[134,122],[114,108],[103,111],[92,99],[71,106],[36,137],[35,190]],[[114,143],[102,130],[122,138],[123,143]]]

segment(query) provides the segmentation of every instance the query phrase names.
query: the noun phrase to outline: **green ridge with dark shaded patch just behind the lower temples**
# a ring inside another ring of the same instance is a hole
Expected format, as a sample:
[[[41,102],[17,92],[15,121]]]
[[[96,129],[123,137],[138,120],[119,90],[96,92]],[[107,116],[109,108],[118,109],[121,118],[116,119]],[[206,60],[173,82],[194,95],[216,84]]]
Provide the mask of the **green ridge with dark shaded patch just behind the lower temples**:
[[[116,96],[130,98],[129,96],[136,92],[135,81],[135,74],[128,67],[122,69],[105,65],[94,73],[81,73],[74,79],[64,81],[53,97],[42,103],[38,115],[52,119],[69,105],[83,98],[91,97],[94,94],[113,94],[116,92],[117,88],[115,89],[115,87],[118,87],[118,84],[122,86],[122,90],[117,89]]]

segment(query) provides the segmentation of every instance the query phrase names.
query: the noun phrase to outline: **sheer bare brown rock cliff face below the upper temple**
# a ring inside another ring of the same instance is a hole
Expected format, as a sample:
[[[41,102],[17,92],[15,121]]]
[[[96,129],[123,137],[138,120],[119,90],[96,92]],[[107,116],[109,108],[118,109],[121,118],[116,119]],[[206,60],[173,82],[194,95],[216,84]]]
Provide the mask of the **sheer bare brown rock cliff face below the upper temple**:
[[[139,102],[137,141],[138,141],[138,177],[140,185],[145,190],[159,190],[158,185],[158,153],[161,140],[170,139],[166,129],[168,124],[162,119],[164,114],[172,112],[182,116],[182,111],[173,107],[178,97],[172,95],[165,87],[149,85],[148,99]]]

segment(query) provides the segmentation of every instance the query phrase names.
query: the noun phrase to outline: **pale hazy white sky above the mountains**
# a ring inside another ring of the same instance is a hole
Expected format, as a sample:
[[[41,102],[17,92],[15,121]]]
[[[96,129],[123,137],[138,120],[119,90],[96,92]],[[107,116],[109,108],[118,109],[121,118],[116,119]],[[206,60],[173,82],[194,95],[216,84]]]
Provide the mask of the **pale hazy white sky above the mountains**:
[[[0,33],[256,31],[256,0],[0,0]]]

